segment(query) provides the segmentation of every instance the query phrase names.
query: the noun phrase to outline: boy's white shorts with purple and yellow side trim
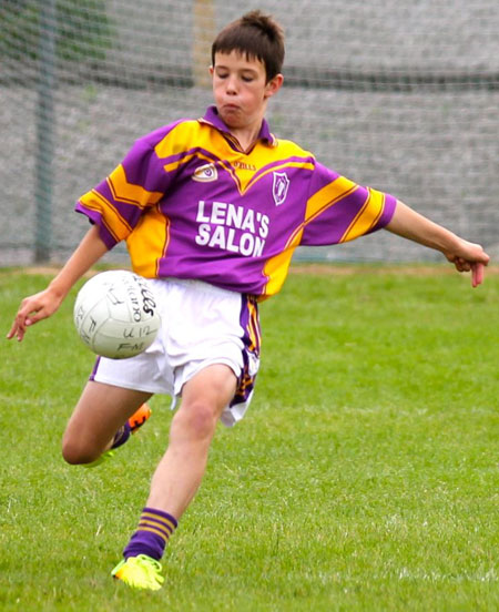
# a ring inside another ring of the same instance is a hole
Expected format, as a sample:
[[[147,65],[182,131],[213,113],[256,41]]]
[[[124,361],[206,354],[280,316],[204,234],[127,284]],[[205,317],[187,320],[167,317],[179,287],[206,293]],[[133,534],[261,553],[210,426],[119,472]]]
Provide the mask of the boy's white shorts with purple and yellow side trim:
[[[259,366],[259,322],[254,296],[201,280],[149,279],[162,327],[154,343],[129,359],[99,357],[91,380],[175,399],[195,374],[225,364],[237,377],[236,394],[221,420],[241,420],[253,396]]]

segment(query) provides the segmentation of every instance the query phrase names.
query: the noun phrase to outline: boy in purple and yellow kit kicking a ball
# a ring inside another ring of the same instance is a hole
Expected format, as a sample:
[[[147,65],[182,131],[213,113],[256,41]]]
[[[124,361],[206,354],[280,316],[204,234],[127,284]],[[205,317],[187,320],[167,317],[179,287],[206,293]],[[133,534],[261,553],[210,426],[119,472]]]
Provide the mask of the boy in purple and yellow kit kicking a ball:
[[[489,259],[391,195],[277,141],[264,114],[283,83],[283,60],[272,18],[253,11],[227,26],[212,49],[215,106],[136,141],[80,200],[92,227],[49,287],[22,302],[8,334],[22,340],[121,239],[167,313],[169,328],[144,354],[98,359],[63,438],[68,462],[92,463],[126,438],[123,424],[153,394],[182,397],[139,527],[112,571],[132,588],[161,588],[160,560],[201,483],[216,424],[231,426],[247,408],[258,369],[257,302],[279,290],[296,246],[385,227],[471,271],[473,286]]]

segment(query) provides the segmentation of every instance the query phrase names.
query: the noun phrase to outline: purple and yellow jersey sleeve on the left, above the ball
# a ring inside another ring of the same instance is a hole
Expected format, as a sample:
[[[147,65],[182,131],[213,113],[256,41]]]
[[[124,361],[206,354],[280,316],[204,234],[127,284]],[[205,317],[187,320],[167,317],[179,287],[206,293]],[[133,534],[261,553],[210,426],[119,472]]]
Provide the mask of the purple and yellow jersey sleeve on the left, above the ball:
[[[169,188],[172,174],[166,172],[155,145],[164,133],[163,129],[139,139],[123,162],[77,203],[77,212],[99,225],[108,248],[125,239]]]

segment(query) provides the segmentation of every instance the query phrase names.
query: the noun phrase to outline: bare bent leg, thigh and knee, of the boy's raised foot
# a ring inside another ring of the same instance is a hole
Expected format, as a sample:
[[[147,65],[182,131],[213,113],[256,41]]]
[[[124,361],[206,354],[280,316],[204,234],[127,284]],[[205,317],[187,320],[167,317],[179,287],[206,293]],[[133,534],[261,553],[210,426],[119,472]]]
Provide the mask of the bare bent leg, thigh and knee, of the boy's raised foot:
[[[68,422],[62,456],[90,463],[110,448],[114,434],[152,394],[89,381]]]

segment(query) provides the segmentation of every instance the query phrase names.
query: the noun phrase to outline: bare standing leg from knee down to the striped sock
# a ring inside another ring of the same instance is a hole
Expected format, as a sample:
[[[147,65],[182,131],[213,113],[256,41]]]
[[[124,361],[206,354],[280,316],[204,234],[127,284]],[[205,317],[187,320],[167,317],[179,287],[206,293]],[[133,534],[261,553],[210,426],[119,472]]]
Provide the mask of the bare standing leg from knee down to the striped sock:
[[[216,424],[236,388],[236,377],[225,365],[208,366],[185,384],[175,414],[170,445],[154,472],[146,506],[183,514],[204,476]]]

